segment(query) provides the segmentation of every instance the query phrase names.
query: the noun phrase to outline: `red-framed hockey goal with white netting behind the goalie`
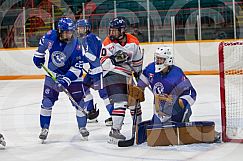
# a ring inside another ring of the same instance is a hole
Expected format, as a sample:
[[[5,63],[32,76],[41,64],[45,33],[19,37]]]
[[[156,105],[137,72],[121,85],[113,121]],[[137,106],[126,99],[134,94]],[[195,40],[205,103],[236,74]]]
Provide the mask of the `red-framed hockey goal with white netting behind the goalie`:
[[[243,41],[219,45],[222,139],[243,142]]]

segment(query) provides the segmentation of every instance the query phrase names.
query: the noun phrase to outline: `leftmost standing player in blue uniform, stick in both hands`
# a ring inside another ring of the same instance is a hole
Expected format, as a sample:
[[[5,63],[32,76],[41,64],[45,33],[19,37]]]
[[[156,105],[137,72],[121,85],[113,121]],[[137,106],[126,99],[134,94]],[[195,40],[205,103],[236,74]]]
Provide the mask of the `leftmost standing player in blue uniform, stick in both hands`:
[[[48,68],[56,76],[57,82],[51,77],[45,77],[44,92],[40,112],[41,133],[39,138],[47,138],[51,120],[52,107],[58,100],[59,92],[66,88],[74,100],[83,107],[82,90],[82,68],[83,55],[81,46],[74,37],[75,24],[70,18],[61,18],[57,30],[47,32],[39,42],[39,47],[34,54],[34,64],[41,68],[45,63],[45,51],[49,51]],[[89,132],[85,128],[87,117],[76,107],[76,118],[79,132],[84,139],[87,139]]]

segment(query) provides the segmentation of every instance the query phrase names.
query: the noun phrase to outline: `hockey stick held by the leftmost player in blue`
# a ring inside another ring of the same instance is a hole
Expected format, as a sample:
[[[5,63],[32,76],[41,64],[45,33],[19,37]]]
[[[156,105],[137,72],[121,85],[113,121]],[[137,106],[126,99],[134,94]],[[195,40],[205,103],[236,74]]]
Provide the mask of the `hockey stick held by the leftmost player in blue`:
[[[54,82],[57,82],[57,78],[51,73],[51,71],[44,66],[43,64],[41,64],[41,66],[43,67],[43,69],[46,71],[46,73],[51,77],[51,79]],[[71,96],[71,94],[68,92],[68,90],[66,88],[63,87],[63,91],[64,93],[66,93],[66,95],[68,96],[68,98],[71,100],[71,102],[80,110],[83,112],[83,114],[85,114],[88,119],[94,119],[97,117],[97,114],[99,115],[99,113],[87,113],[82,107],[80,107],[80,105],[74,100],[74,98]]]

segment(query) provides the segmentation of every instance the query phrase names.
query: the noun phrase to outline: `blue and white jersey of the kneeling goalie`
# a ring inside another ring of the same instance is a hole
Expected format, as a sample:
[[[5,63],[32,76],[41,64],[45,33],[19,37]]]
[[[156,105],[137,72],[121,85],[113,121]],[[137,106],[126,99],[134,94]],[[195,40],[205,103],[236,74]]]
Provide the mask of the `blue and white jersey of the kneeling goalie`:
[[[149,64],[140,75],[138,86],[150,86],[153,94],[172,95],[173,100],[182,98],[192,106],[196,100],[196,91],[181,68],[172,65],[167,73],[155,73],[155,63]]]

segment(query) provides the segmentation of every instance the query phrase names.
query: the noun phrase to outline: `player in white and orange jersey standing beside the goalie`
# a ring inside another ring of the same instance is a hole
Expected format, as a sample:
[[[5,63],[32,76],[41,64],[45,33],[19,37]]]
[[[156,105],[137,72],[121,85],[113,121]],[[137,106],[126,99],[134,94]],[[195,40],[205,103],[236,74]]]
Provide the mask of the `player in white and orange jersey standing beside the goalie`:
[[[126,33],[126,22],[121,17],[114,18],[110,22],[109,36],[105,38],[103,45],[101,62],[104,70],[104,86],[109,100],[114,105],[109,142],[116,143],[118,140],[126,139],[120,130],[127,108],[128,79],[131,78],[133,70],[137,77],[141,73],[143,56],[138,39]],[[141,121],[140,105],[137,108],[139,122]]]

